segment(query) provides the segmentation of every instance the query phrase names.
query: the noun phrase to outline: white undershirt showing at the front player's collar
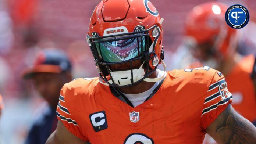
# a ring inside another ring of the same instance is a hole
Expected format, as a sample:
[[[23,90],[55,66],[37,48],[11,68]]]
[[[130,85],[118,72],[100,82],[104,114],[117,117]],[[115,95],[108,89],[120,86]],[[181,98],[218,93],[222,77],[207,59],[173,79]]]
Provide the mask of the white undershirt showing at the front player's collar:
[[[159,69],[156,69],[156,73],[157,73],[157,78],[160,78],[161,76],[164,75],[164,71],[161,71]],[[157,81],[149,90],[144,91],[142,93],[138,93],[138,94],[124,94],[125,97],[128,98],[129,101],[131,101],[132,105],[134,107],[136,107],[137,105],[142,104],[147,97],[149,97],[150,94],[152,94],[153,90],[158,86],[158,84],[160,83],[160,81]]]

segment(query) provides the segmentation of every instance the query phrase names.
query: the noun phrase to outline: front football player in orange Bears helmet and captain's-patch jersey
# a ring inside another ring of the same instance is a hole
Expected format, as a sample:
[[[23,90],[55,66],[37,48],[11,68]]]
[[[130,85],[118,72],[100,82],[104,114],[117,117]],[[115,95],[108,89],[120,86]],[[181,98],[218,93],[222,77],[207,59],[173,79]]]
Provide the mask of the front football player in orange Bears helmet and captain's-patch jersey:
[[[165,71],[162,22],[148,0],[96,6],[87,39],[99,78],[63,86],[47,144],[197,144],[205,133],[218,143],[256,143],[256,128],[230,105],[220,72]]]

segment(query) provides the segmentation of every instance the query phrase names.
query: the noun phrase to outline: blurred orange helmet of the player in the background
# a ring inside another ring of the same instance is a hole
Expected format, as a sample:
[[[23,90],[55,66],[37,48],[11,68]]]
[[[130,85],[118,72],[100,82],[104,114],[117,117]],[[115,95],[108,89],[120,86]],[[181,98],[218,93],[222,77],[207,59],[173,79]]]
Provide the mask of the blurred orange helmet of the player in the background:
[[[207,61],[212,57],[222,61],[234,54],[238,35],[225,22],[227,8],[220,2],[207,2],[194,7],[187,15],[186,36],[196,42],[192,50],[196,58]]]

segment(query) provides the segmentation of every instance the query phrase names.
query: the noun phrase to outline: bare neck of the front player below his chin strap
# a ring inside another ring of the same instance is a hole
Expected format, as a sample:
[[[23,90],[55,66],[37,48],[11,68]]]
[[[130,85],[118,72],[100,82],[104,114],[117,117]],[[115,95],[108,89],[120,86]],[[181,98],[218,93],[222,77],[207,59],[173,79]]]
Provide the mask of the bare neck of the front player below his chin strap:
[[[157,78],[157,72],[154,71],[150,76],[148,76],[148,78]],[[135,86],[120,87],[118,89],[125,94],[138,94],[138,93],[143,93],[144,91],[149,90],[154,84],[155,82],[142,81],[136,84]]]

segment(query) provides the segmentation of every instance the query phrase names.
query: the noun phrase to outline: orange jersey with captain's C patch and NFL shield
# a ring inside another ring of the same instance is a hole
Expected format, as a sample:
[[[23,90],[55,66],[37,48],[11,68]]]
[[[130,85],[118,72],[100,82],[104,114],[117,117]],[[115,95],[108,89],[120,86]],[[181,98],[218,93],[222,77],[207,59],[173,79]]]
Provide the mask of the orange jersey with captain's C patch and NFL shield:
[[[57,118],[92,144],[198,144],[231,102],[224,76],[209,67],[168,72],[156,94],[135,108],[98,78],[79,78],[63,86]]]

